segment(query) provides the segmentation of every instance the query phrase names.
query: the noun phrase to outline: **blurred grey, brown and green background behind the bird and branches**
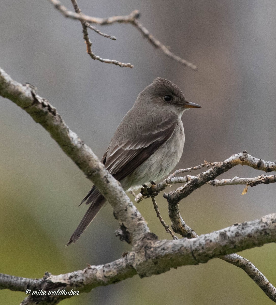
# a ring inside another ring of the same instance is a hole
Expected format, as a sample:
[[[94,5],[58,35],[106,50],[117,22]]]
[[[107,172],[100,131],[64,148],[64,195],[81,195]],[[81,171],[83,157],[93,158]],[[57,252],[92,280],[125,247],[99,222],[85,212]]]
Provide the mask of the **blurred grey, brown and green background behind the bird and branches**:
[[[69,0],[63,0],[72,10]],[[48,1],[6,1],[0,11],[0,66],[16,81],[35,85],[65,122],[99,158],[138,93],[155,77],[176,83],[202,106],[184,113],[186,135],[177,168],[221,161],[246,149],[276,160],[275,1],[88,1],[91,16],[141,11],[140,22],[176,55],[198,66],[194,72],[154,49],[130,24],[99,27],[117,41],[89,32],[93,52],[132,63],[133,69],[93,61],[82,27]],[[105,264],[130,249],[114,236],[118,223],[106,206],[75,245],[65,248],[86,206],[91,188],[78,167],[49,134],[8,99],[0,97],[0,272],[41,278]],[[194,172],[193,174],[197,174]],[[221,178],[256,177],[263,172],[234,167]],[[180,185],[178,185],[180,186]],[[275,212],[275,185],[214,188],[205,185],[180,205],[184,220],[204,234]],[[168,190],[167,190],[168,191]],[[165,221],[167,203],[157,202]],[[151,231],[170,238],[150,199],[138,206]],[[275,244],[239,253],[276,285]],[[2,304],[18,304],[25,293],[0,291]],[[272,304],[239,268],[219,259],[165,274],[138,276],[83,293],[76,304]]]

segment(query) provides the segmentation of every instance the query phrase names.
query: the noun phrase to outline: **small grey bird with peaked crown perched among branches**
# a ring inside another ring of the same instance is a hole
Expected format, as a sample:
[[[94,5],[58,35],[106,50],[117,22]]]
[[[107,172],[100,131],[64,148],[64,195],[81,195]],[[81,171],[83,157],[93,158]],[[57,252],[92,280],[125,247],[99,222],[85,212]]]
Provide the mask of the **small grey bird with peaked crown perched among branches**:
[[[188,108],[201,106],[188,102],[175,84],[161,77],[139,93],[101,160],[126,192],[161,180],[174,169],[185,140],[181,116]],[[79,239],[106,200],[93,185],[81,204],[85,201],[90,206],[67,246]]]

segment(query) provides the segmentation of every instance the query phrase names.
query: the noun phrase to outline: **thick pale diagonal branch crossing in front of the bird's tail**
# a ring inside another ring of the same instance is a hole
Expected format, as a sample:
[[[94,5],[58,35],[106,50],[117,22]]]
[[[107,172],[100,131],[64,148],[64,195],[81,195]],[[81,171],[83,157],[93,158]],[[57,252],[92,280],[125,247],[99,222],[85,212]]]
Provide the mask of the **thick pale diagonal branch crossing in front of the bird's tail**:
[[[30,85],[13,81],[0,68],[0,95],[24,109],[34,120],[48,131],[60,148],[85,173],[114,209],[119,222],[124,223],[130,233],[130,242],[135,243],[149,232],[140,212],[123,191],[120,183],[100,163],[93,151],[65,124],[46,99],[36,94]],[[134,216],[135,217],[134,217]]]

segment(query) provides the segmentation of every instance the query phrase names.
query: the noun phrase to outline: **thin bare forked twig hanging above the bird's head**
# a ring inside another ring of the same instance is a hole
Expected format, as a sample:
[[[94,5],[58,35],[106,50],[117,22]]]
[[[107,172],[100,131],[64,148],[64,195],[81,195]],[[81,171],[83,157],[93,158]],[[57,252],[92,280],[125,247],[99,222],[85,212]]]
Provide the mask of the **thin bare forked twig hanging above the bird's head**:
[[[109,17],[109,18],[96,18],[96,17],[91,17],[91,16],[84,15],[81,12],[77,12],[76,11],[76,13],[74,13],[72,11],[69,11],[58,0],[49,0],[49,1],[65,17],[68,17],[68,18],[71,18],[71,19],[75,19],[75,20],[80,20],[82,23],[85,24],[85,27],[91,28],[89,26],[89,23],[95,23],[95,24],[99,24],[99,25],[110,25],[110,24],[113,24],[113,23],[130,23],[134,27],[136,27],[140,31],[140,33],[142,33],[143,37],[147,38],[147,40],[155,48],[159,48],[160,50],[162,50],[162,52],[165,53],[165,55],[169,56],[173,60],[178,61],[179,63],[183,64],[184,66],[187,66],[187,67],[191,68],[194,71],[197,70],[197,66],[195,66],[193,63],[190,63],[187,60],[185,60],[185,59],[181,58],[180,56],[177,56],[176,54],[171,52],[168,47],[166,47],[160,41],[158,41],[153,35],[151,35],[149,33],[149,31],[141,23],[139,23],[137,21],[137,19],[140,17],[140,12],[138,10],[134,10],[133,12],[131,12],[129,15],[126,15],[126,16],[113,16],[113,17]],[[94,28],[92,28],[92,30],[94,30]],[[97,33],[100,32],[97,29],[95,31]],[[114,36],[110,37],[110,35],[107,35],[107,34],[103,34],[103,36],[104,37],[108,37],[108,38],[111,38],[111,37],[114,38]],[[113,39],[113,38],[111,38],[111,39]],[[91,48],[91,42],[88,43],[88,41],[86,41],[86,45],[89,46],[88,48]],[[87,53],[91,56],[91,58],[100,60],[101,62],[104,62],[104,63],[114,63],[114,64],[116,64],[118,66],[121,66],[121,67],[124,66],[124,67],[133,68],[133,66],[130,63],[124,64],[124,63],[119,63],[117,60],[102,59],[99,56],[95,56],[92,53],[92,51],[90,53],[87,51]]]

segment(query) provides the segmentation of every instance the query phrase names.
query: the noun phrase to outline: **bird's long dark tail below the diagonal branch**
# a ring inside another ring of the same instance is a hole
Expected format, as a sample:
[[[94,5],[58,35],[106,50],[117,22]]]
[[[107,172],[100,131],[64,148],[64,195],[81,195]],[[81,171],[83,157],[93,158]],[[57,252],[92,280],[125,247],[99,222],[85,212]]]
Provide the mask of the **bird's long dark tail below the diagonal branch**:
[[[70,237],[66,246],[69,246],[72,242],[75,243],[80,238],[80,236],[82,235],[84,230],[89,226],[90,222],[96,217],[96,215],[99,213],[100,209],[103,207],[103,205],[105,203],[105,199],[104,199],[103,195],[101,195],[97,189],[94,189],[94,190],[95,190],[94,193],[97,193],[97,194],[96,194],[96,196],[94,195],[93,197],[94,198],[96,197],[96,199],[94,199],[91,202],[91,201],[89,201],[89,198],[86,198],[86,199],[88,199],[87,201],[91,202],[91,205],[89,206],[89,208],[86,211],[85,215],[83,216],[81,222],[79,223],[78,228],[76,228],[76,230]]]

